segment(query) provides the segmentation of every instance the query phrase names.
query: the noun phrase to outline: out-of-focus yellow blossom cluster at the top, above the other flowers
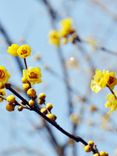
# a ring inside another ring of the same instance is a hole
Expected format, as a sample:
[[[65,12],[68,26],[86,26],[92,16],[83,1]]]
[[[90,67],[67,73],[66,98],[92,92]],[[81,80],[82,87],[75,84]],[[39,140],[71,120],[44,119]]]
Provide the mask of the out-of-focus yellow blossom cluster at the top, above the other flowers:
[[[73,28],[72,19],[65,18],[60,21],[60,29],[52,30],[49,33],[49,43],[60,46],[61,43],[75,42],[77,39],[76,31]]]

